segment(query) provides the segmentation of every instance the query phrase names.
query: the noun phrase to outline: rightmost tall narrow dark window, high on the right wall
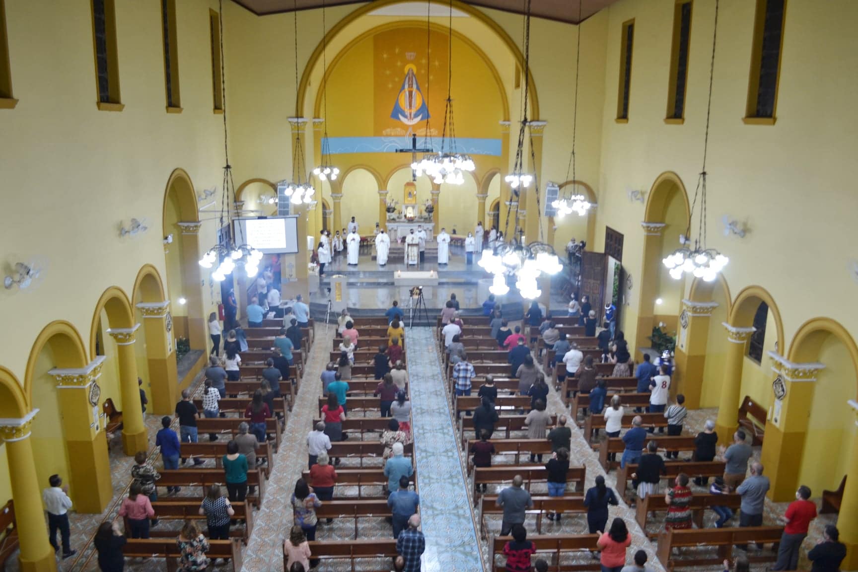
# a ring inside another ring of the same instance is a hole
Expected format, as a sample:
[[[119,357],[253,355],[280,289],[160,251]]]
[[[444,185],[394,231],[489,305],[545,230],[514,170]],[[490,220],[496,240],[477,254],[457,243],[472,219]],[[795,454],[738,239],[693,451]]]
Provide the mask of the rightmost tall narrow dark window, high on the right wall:
[[[746,123],[775,123],[786,7],[786,0],[757,0]]]

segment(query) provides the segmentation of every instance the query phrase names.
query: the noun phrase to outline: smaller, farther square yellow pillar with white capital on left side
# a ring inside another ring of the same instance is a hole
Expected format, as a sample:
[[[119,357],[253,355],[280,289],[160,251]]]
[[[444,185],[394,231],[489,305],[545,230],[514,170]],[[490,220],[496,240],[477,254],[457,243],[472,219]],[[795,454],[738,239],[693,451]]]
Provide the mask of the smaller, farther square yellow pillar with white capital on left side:
[[[170,300],[137,304],[143,317],[146,336],[146,361],[149,387],[152,390],[152,412],[172,415],[178,400],[178,370],[172,354],[172,315]]]

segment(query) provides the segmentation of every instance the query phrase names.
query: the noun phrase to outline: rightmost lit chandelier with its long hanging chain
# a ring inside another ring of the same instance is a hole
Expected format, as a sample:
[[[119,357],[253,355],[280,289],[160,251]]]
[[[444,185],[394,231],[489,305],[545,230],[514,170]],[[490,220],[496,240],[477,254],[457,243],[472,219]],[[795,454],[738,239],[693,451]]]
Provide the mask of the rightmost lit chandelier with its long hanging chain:
[[[718,3],[715,1],[715,29],[712,32],[712,60],[709,69],[709,101],[706,105],[706,130],[703,140],[703,168],[700,170],[697,189],[694,190],[691,213],[688,214],[688,226],[684,235],[683,247],[674,251],[674,254],[665,258],[662,262],[670,270],[670,276],[674,280],[680,280],[684,274],[693,274],[696,278],[702,278],[707,282],[715,280],[718,273],[727,266],[729,259],[715,249],[706,247],[706,152],[709,147],[709,121],[712,110],[712,79],[715,75],[715,46],[718,39]],[[698,212],[698,236],[693,240],[691,237],[692,220],[694,218],[694,207],[700,196],[700,210]]]

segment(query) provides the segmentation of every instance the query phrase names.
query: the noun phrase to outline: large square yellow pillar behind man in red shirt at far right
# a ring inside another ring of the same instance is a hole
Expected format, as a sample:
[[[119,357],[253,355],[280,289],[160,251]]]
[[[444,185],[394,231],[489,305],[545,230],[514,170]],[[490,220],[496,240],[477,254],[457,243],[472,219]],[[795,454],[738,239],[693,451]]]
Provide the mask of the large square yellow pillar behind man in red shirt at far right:
[[[804,454],[813,390],[823,364],[795,364],[776,352],[768,352],[775,362],[771,370],[774,399],[765,421],[765,440],[760,461],[771,488],[769,497],[776,503],[790,501],[798,481]],[[845,514],[845,513],[844,513]]]

